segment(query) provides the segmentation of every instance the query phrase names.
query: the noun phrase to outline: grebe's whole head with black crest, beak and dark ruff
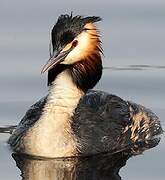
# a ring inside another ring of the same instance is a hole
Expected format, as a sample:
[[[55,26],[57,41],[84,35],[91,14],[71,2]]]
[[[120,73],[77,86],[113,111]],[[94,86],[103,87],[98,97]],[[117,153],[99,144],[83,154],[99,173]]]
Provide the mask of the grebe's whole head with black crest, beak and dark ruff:
[[[93,88],[102,73],[101,41],[95,26],[100,17],[61,15],[51,32],[52,53],[43,67],[48,84],[65,69],[82,90]]]

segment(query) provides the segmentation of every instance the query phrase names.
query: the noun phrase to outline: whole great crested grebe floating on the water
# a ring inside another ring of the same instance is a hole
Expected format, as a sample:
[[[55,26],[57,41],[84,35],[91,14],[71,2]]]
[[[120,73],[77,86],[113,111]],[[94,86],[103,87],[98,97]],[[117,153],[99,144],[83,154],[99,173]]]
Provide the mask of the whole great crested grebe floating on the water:
[[[102,75],[100,17],[61,15],[51,33],[49,93],[31,106],[8,140],[20,153],[86,156],[125,145],[158,144],[163,132],[149,109],[92,89]]]

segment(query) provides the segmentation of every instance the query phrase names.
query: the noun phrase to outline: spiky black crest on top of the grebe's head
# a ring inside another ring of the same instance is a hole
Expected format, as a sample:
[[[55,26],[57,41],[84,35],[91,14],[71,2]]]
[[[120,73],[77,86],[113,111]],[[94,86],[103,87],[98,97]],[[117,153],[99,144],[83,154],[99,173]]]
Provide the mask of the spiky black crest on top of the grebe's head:
[[[100,21],[97,16],[83,17],[65,14],[59,16],[57,23],[52,29],[52,45],[53,50],[71,42],[78,34],[80,34],[87,23]]]

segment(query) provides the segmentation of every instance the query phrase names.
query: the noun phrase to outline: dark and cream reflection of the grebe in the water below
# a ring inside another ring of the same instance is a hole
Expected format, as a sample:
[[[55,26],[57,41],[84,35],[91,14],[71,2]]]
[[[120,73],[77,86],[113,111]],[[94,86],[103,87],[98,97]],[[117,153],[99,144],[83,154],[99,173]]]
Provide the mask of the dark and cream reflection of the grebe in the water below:
[[[130,157],[158,143],[157,138],[89,157],[48,159],[16,153],[12,157],[23,180],[120,180],[119,171]]]

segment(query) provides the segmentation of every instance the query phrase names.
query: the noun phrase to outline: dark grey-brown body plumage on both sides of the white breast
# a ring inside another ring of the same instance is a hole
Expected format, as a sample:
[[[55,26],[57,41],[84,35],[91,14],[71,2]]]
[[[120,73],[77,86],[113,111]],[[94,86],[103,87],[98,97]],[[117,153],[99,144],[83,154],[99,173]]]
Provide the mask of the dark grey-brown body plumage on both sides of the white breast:
[[[47,97],[31,106],[10,137],[17,148],[21,137],[40,118]],[[28,120],[28,121],[27,121]],[[75,109],[71,123],[76,136],[79,155],[119,151],[138,146],[145,150],[159,143],[156,135],[163,133],[158,117],[145,107],[124,101],[118,96],[101,91],[88,91]],[[134,130],[133,130],[134,129]]]

